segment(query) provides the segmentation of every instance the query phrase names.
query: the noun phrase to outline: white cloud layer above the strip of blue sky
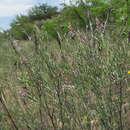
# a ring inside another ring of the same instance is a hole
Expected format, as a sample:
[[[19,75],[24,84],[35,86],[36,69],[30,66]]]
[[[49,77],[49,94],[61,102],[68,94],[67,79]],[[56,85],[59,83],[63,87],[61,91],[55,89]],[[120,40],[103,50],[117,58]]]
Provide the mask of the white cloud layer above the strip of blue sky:
[[[69,3],[69,1],[65,0],[66,3]],[[32,6],[38,3],[48,3],[56,6],[62,2],[64,0],[0,0],[0,17],[26,13]]]

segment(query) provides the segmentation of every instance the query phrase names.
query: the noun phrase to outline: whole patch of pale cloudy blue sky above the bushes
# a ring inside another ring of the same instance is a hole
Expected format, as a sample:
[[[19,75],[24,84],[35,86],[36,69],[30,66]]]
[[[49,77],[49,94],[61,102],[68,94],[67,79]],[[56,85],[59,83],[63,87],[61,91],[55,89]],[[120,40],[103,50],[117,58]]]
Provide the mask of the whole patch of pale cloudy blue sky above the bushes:
[[[9,29],[9,25],[16,15],[26,14],[34,5],[47,3],[57,6],[61,2],[63,0],[0,0],[0,30]]]

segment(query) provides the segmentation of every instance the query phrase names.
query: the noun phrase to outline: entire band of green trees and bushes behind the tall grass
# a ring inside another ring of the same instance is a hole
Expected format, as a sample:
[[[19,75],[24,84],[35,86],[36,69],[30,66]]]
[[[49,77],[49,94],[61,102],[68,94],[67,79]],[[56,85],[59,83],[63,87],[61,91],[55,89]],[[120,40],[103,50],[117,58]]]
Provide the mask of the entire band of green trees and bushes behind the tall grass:
[[[33,7],[27,16],[17,16],[11,24],[10,32],[17,39],[27,39],[27,35],[31,35],[33,26],[37,24],[50,36],[56,37],[57,32],[67,32],[67,25],[70,23],[74,28],[83,30],[95,27],[96,19],[100,23],[124,25],[129,21],[128,13],[128,2],[125,0],[78,1],[77,4],[64,5],[60,11],[56,7],[40,4]]]

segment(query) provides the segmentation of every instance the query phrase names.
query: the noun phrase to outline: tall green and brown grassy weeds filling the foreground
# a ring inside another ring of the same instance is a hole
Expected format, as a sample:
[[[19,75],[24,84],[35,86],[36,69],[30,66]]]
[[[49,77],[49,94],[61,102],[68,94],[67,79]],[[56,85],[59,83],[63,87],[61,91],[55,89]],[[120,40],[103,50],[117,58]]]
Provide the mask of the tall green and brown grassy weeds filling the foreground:
[[[61,41],[0,44],[2,130],[129,130],[129,43],[122,28]],[[116,32],[115,32],[116,31]]]

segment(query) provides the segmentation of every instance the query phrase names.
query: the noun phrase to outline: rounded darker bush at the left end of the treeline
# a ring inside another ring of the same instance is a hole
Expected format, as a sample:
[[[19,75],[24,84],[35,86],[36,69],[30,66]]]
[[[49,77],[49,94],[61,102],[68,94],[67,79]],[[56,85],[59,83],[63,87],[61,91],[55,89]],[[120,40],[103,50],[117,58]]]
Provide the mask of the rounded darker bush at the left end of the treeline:
[[[41,24],[39,21],[47,20],[57,14],[56,7],[51,7],[47,4],[35,6],[28,12],[28,15],[17,16],[11,23],[9,32],[15,39],[28,39],[28,36],[32,35],[31,33],[36,23],[39,26]]]

